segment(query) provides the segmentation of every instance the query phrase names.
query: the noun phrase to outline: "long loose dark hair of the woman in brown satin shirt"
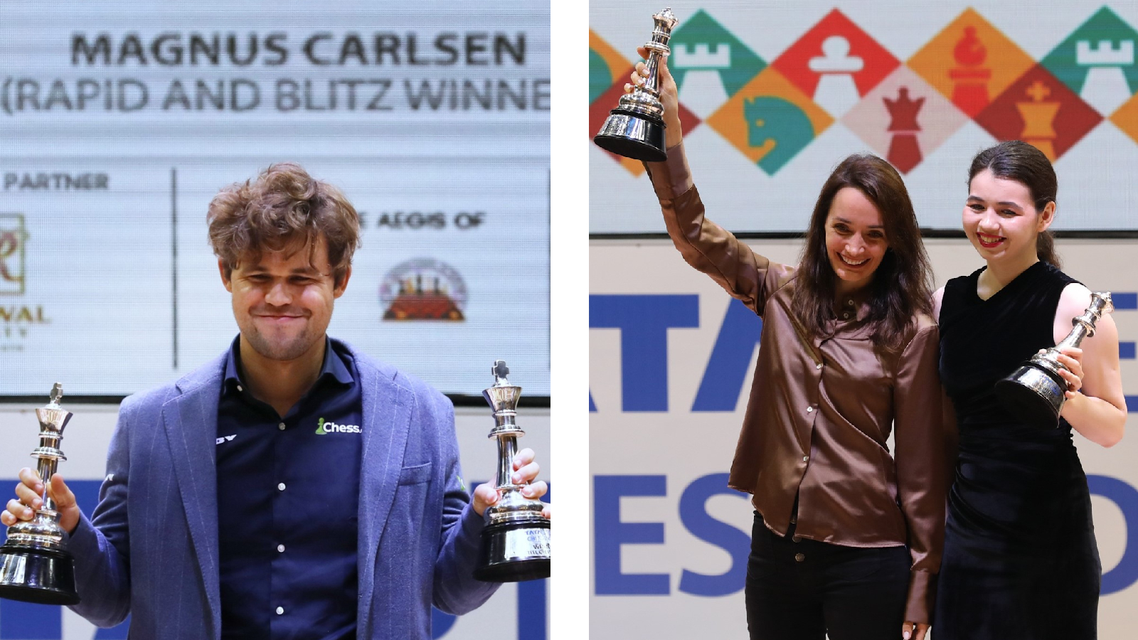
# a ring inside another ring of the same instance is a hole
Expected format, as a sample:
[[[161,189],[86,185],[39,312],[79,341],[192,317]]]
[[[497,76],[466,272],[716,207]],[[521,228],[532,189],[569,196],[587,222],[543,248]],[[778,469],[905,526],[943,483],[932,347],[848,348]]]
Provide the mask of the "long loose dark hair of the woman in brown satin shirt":
[[[869,284],[867,320],[874,346],[892,351],[900,346],[917,312],[932,313],[932,268],[905,181],[877,156],[847,157],[822,186],[806,232],[791,306],[810,335],[820,335],[825,322],[834,318],[836,276],[826,251],[826,218],[834,196],[846,187],[865,194],[881,212],[885,227],[889,249]]]

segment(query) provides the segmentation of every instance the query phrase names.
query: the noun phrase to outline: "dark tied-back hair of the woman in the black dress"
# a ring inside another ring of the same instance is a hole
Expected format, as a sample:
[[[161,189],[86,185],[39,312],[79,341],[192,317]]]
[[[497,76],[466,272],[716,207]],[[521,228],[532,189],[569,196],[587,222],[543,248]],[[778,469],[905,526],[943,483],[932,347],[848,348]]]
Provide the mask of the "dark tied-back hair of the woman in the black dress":
[[[1055,202],[1059,188],[1055,167],[1042,151],[1026,142],[1008,140],[976,154],[968,167],[970,187],[972,179],[986,169],[996,178],[1015,180],[1026,187],[1038,213],[1044,212],[1047,203]],[[1055,236],[1050,231],[1039,232],[1036,238],[1036,255],[1056,269],[1062,266],[1059,256],[1055,253]]]

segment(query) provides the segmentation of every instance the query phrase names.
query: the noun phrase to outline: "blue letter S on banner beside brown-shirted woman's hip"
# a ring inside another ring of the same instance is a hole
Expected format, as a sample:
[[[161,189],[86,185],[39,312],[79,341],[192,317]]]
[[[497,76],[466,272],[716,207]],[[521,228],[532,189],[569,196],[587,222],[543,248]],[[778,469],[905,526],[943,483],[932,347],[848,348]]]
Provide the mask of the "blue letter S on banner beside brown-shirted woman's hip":
[[[717,520],[707,511],[707,501],[715,495],[747,498],[727,486],[727,474],[709,474],[695,478],[679,497],[679,522],[700,540],[715,544],[731,555],[731,568],[718,575],[684,569],[679,574],[679,590],[693,596],[729,596],[743,588],[747,580],[747,558],[751,538],[734,526]]]

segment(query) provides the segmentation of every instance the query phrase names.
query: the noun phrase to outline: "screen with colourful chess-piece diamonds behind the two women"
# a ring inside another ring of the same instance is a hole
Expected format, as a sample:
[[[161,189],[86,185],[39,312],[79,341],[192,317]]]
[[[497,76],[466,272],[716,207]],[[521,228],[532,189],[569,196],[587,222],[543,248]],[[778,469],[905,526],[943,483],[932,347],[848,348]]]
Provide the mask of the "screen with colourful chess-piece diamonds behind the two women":
[[[643,0],[593,0],[589,131],[600,129],[649,40]],[[668,66],[684,146],[716,221],[805,229],[844,156],[905,177],[922,227],[959,228],[967,167],[1000,140],[1040,148],[1059,174],[1056,229],[1131,230],[1138,166],[1138,6],[679,1]],[[589,230],[663,231],[641,163],[589,156]],[[645,198],[646,196],[646,198]]]

